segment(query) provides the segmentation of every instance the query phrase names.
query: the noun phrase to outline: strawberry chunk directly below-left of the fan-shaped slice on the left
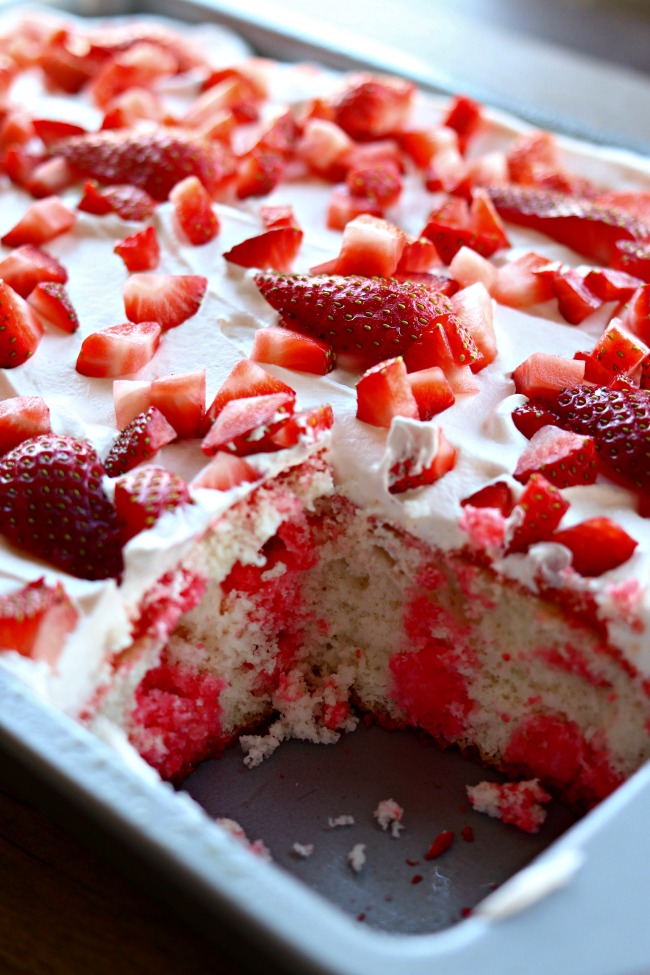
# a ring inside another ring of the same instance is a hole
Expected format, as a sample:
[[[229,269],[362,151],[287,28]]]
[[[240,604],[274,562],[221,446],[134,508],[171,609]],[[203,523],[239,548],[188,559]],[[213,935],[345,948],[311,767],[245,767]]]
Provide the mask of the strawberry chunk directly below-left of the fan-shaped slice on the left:
[[[76,369],[82,376],[128,376],[146,366],[160,343],[158,322],[124,322],[91,332],[81,343]]]

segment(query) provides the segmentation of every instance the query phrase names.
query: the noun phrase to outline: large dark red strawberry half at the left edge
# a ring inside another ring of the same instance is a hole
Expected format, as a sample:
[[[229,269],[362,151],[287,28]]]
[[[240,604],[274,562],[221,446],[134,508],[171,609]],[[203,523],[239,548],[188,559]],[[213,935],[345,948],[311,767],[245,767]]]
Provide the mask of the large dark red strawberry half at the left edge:
[[[82,579],[122,571],[117,516],[93,447],[43,434],[0,458],[0,531],[37,558]]]

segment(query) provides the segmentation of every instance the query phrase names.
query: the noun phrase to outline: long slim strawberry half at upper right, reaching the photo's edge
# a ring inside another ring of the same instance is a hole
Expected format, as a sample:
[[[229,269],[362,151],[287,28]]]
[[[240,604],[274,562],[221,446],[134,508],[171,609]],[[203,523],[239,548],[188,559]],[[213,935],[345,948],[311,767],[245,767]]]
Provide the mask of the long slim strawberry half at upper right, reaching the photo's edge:
[[[625,211],[567,193],[514,185],[491,187],[489,193],[504,220],[539,230],[600,264],[616,266],[619,241],[650,237],[650,227]]]

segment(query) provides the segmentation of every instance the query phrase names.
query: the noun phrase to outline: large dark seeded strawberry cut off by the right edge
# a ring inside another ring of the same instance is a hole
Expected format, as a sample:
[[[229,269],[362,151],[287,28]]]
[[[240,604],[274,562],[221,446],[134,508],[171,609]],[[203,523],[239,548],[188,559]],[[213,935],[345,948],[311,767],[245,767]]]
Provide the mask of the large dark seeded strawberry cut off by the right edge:
[[[650,392],[581,384],[556,393],[548,408],[564,430],[594,438],[604,474],[642,496],[648,493]]]

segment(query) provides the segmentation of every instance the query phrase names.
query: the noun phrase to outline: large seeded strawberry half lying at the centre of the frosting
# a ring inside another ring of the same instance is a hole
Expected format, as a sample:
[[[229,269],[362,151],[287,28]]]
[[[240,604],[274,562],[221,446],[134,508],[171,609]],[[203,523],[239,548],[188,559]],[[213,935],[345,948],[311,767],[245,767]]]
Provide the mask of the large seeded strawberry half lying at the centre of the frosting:
[[[255,283],[289,328],[367,364],[401,355],[453,317],[445,295],[392,278],[261,272]]]

